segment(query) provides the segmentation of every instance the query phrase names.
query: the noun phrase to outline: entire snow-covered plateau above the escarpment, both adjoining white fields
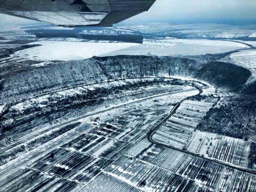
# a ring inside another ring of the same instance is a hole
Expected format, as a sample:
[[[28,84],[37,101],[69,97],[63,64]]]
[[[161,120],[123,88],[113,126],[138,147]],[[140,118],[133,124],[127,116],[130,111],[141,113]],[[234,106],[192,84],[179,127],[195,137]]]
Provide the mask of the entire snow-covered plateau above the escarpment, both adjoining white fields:
[[[213,41],[206,39],[156,39],[137,43],[111,42],[56,42],[40,41],[30,44],[41,44],[16,52],[15,58],[22,60],[80,60],[93,56],[111,55],[199,55],[222,53],[246,48],[236,42]]]

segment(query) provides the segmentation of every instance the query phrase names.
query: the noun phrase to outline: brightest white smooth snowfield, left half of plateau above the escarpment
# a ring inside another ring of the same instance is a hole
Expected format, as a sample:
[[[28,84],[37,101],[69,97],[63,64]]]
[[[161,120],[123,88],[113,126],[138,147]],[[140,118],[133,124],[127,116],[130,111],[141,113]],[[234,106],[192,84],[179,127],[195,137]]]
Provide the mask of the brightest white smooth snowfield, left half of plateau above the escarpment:
[[[90,43],[90,42],[53,42],[41,41],[30,44],[41,44],[16,52],[13,56],[30,60],[80,60],[93,56],[116,52],[129,48],[135,43]]]

